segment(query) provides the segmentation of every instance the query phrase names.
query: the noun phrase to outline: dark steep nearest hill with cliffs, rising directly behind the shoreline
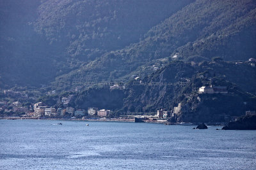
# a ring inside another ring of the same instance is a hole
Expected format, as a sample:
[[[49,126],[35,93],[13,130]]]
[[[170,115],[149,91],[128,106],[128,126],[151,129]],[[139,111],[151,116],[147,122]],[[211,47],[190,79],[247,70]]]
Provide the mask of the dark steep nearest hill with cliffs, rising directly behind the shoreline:
[[[224,122],[225,117],[256,109],[255,73],[255,67],[248,63],[204,61],[191,66],[190,62],[173,61],[149,76],[129,81],[125,89],[105,86],[84,90],[77,94],[73,106],[148,113],[161,108],[170,111],[180,103],[180,122]],[[227,88],[227,93],[198,93],[200,87],[210,84]]]

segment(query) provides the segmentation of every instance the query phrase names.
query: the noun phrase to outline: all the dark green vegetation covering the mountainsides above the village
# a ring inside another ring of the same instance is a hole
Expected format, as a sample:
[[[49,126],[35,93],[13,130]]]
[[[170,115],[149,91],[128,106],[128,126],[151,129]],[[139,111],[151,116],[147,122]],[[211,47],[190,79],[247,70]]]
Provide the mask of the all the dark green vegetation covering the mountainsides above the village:
[[[0,96],[63,108],[81,87],[68,106],[117,117],[181,103],[178,121],[223,121],[256,109],[255,16],[253,0],[3,0],[0,89],[29,97]],[[209,85],[228,94],[198,94]]]

